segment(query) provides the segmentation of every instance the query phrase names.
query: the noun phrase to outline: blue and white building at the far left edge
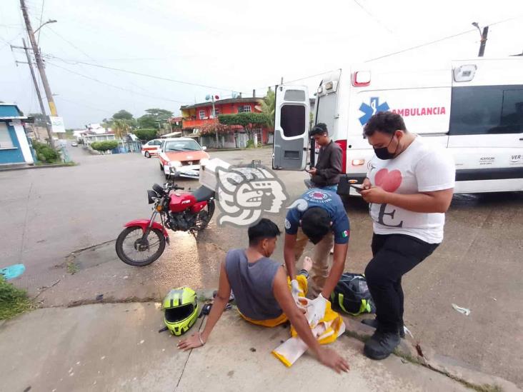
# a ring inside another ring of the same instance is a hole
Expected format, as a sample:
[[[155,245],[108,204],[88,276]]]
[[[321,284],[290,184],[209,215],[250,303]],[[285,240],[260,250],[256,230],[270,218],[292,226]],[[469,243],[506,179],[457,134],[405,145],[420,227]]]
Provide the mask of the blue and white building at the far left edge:
[[[24,116],[14,104],[0,104],[0,164],[34,164]]]

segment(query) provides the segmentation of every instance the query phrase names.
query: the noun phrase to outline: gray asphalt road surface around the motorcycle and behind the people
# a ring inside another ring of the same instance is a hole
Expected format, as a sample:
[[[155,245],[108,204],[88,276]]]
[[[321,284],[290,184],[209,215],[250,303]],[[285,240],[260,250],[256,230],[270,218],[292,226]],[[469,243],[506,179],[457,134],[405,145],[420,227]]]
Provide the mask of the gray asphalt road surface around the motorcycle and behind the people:
[[[95,301],[99,294],[106,301],[161,298],[182,285],[215,288],[224,253],[246,246],[246,230],[219,226],[216,216],[197,241],[188,233],[173,233],[159,261],[144,268],[126,266],[116,258],[114,243],[106,241],[114,240],[126,221],[149,216],[145,191],[164,181],[159,164],[138,154],[69,151],[79,166],[0,173],[0,268],[24,263],[26,273],[16,284],[39,294],[42,306]],[[256,149],[211,156],[231,164],[262,159],[270,166],[270,154],[270,149]],[[278,171],[277,176],[289,198],[304,190],[304,173]],[[198,186],[194,180],[180,184]],[[444,242],[404,278],[405,321],[414,338],[519,386],[522,208],[521,193],[454,196]],[[371,255],[372,224],[361,200],[349,201],[347,213],[351,241],[345,270],[361,272]],[[284,210],[267,217],[282,228]],[[71,252],[74,257],[66,259]],[[274,257],[283,261],[282,241]],[[74,275],[66,260],[78,269]],[[470,315],[458,313],[452,303],[469,308]]]

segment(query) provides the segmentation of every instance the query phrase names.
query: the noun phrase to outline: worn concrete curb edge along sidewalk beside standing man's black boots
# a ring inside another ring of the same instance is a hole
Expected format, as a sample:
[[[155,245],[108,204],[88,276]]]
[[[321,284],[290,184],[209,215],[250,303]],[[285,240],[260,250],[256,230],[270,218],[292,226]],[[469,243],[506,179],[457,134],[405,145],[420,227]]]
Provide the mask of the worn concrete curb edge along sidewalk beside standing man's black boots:
[[[374,328],[362,324],[360,320],[354,320],[343,315],[342,318],[347,326],[345,331],[347,336],[357,338],[359,341],[367,341],[374,333]],[[423,346],[422,348],[421,344],[412,338],[402,339],[394,354],[409,362],[437,371],[474,391],[521,391],[511,381],[474,370],[466,363],[457,363],[454,358],[439,355],[430,347]]]

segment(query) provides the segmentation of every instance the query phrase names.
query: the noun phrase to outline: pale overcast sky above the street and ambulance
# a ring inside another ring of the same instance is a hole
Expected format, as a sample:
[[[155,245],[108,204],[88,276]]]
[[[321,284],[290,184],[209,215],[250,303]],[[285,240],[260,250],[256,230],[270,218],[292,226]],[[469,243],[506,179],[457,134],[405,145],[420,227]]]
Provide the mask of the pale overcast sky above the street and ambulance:
[[[34,29],[41,20],[58,21],[40,30],[39,44],[66,128],[120,109],[135,117],[154,107],[178,114],[181,104],[212,93],[251,96],[256,89],[262,96],[281,77],[301,79],[466,31],[387,61],[474,58],[473,21],[491,25],[485,56],[523,51],[522,0],[27,0],[27,6]],[[24,52],[9,47],[22,37],[19,1],[0,0],[0,101],[27,114],[39,105],[28,66],[15,64],[26,61]],[[320,79],[296,83],[314,91]]]

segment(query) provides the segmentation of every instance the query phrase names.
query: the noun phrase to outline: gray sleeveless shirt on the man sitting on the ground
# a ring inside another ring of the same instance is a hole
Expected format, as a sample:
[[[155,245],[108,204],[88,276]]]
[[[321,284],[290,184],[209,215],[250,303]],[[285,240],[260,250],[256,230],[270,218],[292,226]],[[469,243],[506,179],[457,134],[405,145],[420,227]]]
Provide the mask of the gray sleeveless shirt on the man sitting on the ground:
[[[272,283],[281,264],[267,257],[247,261],[244,249],[232,249],[225,256],[225,271],[239,311],[254,320],[277,318],[282,314]]]

